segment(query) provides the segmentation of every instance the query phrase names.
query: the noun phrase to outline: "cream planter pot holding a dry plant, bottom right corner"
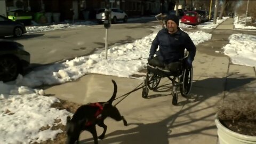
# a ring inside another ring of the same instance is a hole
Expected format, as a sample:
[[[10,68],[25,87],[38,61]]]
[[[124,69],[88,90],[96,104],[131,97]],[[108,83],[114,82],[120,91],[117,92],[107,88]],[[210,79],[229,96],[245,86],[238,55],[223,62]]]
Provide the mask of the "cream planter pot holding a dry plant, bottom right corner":
[[[215,115],[215,124],[218,129],[219,144],[256,144],[256,137],[229,130],[220,123],[217,115]]]

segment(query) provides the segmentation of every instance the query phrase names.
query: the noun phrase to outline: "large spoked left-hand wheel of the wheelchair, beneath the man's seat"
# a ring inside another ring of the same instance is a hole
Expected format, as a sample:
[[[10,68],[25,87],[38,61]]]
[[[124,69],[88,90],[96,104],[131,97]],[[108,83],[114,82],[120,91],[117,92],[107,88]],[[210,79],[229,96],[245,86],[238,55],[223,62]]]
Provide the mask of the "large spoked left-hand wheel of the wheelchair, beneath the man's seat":
[[[161,78],[157,74],[151,73],[149,71],[147,72],[146,84],[149,90],[156,90],[160,81]]]

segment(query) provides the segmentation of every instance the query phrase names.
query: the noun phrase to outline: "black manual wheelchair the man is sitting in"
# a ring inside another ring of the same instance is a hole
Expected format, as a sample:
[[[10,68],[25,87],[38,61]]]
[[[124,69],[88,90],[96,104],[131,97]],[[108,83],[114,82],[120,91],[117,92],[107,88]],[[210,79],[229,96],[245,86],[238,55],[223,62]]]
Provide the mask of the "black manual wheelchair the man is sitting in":
[[[156,66],[147,65],[147,75],[142,86],[142,98],[148,97],[149,90],[156,91],[162,78],[169,78],[172,82],[172,105],[178,103],[178,88],[183,97],[190,93],[193,81],[193,67],[186,66],[187,57],[180,60],[181,68],[169,71]]]

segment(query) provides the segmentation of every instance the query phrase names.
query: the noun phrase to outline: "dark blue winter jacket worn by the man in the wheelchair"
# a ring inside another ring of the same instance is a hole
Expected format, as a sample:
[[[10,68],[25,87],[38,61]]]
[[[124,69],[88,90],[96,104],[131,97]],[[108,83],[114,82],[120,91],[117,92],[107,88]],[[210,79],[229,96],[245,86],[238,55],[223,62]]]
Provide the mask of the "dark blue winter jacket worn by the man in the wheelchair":
[[[159,50],[156,52],[158,45]],[[156,54],[160,60],[168,64],[183,58],[185,49],[189,51],[188,60],[193,61],[196,55],[196,46],[188,34],[179,27],[177,33],[169,34],[165,28],[158,31],[151,44],[149,57],[153,58]]]

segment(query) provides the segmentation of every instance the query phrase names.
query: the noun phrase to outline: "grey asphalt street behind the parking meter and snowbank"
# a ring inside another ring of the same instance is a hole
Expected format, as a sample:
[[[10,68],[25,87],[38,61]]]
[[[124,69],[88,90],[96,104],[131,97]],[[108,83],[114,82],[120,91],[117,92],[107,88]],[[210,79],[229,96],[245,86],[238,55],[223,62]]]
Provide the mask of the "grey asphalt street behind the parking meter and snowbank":
[[[152,33],[159,22],[117,23],[108,29],[108,46],[135,41]],[[74,59],[105,47],[106,29],[103,25],[66,28],[10,38],[25,46],[31,54],[31,67]]]

